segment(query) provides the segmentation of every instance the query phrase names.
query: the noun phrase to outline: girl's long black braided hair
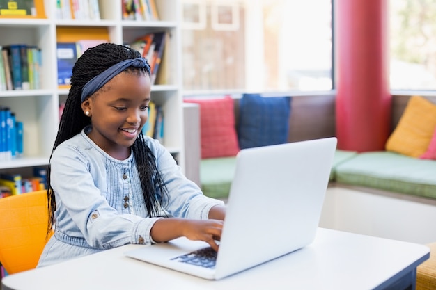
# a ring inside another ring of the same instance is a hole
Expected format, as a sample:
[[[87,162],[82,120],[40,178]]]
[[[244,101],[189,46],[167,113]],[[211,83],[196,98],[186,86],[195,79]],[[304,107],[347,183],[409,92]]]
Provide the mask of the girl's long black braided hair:
[[[113,43],[103,43],[96,47],[87,49],[82,56],[77,59],[72,68],[71,88],[65,102],[65,108],[59,122],[59,130],[54,141],[52,155],[56,147],[63,141],[79,134],[84,127],[91,124],[91,119],[84,115],[81,109],[81,91],[84,85],[93,79],[94,76],[101,74],[104,70],[130,58],[139,58],[141,54],[129,47],[116,45]],[[127,67],[125,72],[133,74],[145,74],[150,76],[150,72],[145,67]],[[153,152],[146,145],[144,136],[139,134],[137,140],[132,145],[134,160],[137,164],[141,188],[145,200],[146,209],[149,216],[158,216],[160,205],[167,194],[166,186],[162,175],[157,170],[157,164]],[[52,231],[54,225],[54,211],[56,211],[56,200],[54,191],[50,185],[51,161],[47,170],[47,198],[49,220],[47,225],[47,235]],[[160,193],[160,194],[158,194]]]

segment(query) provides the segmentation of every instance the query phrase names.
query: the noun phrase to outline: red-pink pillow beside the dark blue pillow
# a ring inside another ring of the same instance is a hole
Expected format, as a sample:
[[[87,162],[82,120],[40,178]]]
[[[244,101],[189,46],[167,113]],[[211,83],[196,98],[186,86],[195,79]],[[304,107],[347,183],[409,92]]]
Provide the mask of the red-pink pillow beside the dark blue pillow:
[[[233,99],[184,99],[200,106],[201,158],[235,156],[240,148],[235,129]]]

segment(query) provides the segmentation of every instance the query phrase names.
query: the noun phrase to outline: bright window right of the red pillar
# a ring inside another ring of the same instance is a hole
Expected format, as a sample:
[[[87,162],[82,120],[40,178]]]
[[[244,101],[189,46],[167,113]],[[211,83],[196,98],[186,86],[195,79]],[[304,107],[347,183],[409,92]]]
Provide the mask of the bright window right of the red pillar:
[[[436,90],[434,0],[391,0],[390,81],[393,90]]]

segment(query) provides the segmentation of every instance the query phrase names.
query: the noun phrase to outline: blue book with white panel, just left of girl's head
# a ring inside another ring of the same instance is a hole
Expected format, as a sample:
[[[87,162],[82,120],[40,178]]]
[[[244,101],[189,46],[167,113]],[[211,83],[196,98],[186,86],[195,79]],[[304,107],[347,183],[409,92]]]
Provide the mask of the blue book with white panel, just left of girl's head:
[[[77,61],[76,42],[58,42],[56,57],[58,61],[58,85],[70,85],[72,67]]]

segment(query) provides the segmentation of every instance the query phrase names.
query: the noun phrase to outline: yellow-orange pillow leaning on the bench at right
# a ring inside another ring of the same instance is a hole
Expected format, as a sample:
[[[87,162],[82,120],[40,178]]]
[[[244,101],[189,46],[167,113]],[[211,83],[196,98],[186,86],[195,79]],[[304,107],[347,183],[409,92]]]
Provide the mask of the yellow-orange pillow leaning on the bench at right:
[[[424,97],[412,96],[387,140],[386,150],[419,157],[426,152],[435,127],[436,104]]]

